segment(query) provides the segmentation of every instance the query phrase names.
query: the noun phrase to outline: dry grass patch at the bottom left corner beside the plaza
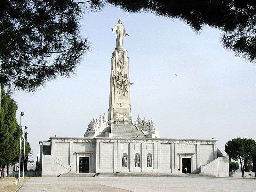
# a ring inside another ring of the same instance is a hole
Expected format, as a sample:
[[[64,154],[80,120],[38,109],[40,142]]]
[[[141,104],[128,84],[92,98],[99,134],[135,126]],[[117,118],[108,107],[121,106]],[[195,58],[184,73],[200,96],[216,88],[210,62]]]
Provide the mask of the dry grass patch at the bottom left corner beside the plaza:
[[[15,177],[4,177],[0,179],[0,191],[1,192],[14,192],[16,191],[29,177],[25,179],[20,178],[20,182],[17,179],[17,185],[15,185]]]

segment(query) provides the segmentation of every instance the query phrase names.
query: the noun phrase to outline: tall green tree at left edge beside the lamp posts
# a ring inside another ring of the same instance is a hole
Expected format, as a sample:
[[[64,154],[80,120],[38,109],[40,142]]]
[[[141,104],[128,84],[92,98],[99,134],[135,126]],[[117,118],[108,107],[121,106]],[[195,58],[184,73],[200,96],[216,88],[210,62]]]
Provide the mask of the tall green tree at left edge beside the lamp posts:
[[[16,120],[17,103],[9,93],[1,89],[1,135],[0,135],[0,167],[1,178],[4,177],[5,165],[10,165],[19,153],[21,130]]]

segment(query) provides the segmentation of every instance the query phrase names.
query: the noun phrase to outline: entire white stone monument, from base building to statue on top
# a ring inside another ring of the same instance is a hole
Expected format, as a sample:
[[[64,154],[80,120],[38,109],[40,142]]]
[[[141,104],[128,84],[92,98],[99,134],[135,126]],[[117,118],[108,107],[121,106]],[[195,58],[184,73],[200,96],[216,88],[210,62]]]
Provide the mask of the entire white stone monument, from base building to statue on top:
[[[105,113],[94,117],[84,138],[39,141],[42,176],[67,172],[183,173],[185,167],[188,173],[229,176],[228,158],[217,149],[217,140],[161,139],[152,118],[139,115],[132,122],[129,57],[123,49],[127,33],[122,28],[119,20],[112,29],[117,40],[111,59],[108,119]]]

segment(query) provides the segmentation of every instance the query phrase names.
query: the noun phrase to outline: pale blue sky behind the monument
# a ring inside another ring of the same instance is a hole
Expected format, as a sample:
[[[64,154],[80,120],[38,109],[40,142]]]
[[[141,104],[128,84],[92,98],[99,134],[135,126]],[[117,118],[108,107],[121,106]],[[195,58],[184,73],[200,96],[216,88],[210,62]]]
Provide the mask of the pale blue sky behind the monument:
[[[130,64],[132,117],[153,118],[162,138],[256,140],[256,66],[220,44],[221,31],[195,33],[184,22],[105,6],[86,13],[81,34],[91,42],[76,76],[49,82],[35,94],[16,92],[17,119],[28,126],[33,160],[39,140],[83,137],[95,116],[108,114],[110,60],[118,19]],[[177,76],[175,76],[175,74]]]

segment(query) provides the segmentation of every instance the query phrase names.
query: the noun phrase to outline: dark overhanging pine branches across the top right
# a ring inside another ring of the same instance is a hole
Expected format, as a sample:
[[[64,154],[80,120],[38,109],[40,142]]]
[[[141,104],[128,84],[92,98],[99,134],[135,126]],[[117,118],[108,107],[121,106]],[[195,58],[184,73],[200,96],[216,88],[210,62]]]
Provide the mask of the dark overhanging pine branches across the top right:
[[[196,32],[204,26],[222,30],[222,44],[251,62],[256,61],[256,1],[254,0],[101,0],[127,12],[151,12],[185,21]]]

